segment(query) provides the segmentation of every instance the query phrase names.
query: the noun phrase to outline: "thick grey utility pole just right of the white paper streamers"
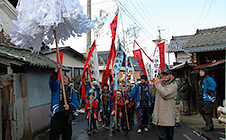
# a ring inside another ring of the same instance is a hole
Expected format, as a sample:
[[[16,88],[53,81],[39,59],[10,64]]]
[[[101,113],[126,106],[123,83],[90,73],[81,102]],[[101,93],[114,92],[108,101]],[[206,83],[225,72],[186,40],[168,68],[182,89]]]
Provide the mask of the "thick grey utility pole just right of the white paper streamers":
[[[87,0],[87,15],[89,15],[89,20],[91,20],[91,0]],[[91,44],[91,29],[87,30],[86,38],[86,53],[88,54],[89,46]]]

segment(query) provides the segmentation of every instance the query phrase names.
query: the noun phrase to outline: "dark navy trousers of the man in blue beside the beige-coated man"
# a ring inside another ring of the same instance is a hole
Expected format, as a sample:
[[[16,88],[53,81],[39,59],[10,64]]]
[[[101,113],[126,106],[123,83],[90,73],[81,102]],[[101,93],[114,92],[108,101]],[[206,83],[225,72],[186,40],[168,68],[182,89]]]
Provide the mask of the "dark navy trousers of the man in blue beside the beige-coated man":
[[[138,129],[148,128],[149,107],[148,103],[141,103],[138,108]]]

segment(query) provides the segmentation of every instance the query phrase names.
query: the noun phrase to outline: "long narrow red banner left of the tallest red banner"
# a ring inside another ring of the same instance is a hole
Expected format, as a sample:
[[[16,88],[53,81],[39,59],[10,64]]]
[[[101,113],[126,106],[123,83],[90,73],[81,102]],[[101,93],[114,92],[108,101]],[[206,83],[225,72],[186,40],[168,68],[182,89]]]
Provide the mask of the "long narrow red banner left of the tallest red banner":
[[[82,99],[87,98],[87,96],[86,96],[86,88],[85,88],[85,85],[84,85],[85,84],[85,71],[86,71],[86,67],[87,67],[87,65],[89,63],[89,60],[90,60],[90,58],[91,58],[91,56],[93,54],[93,51],[94,51],[95,47],[96,47],[96,40],[94,40],[93,45],[89,49],[89,53],[88,53],[88,55],[86,57],[86,62],[85,62],[85,65],[84,65],[84,68],[83,68],[83,72],[82,72]]]

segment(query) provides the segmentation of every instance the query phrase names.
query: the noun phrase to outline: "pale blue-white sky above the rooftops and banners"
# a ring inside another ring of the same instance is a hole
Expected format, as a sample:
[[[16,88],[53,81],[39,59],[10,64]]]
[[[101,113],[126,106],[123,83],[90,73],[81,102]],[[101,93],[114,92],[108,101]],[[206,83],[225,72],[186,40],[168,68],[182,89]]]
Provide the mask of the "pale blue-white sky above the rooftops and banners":
[[[79,0],[86,13],[87,0]],[[115,16],[118,4],[121,2],[127,10],[119,7],[119,22],[117,37],[123,37],[123,29],[136,23],[142,29],[137,39],[149,55],[154,51],[152,39],[158,37],[158,28],[162,38],[168,40],[172,36],[195,34],[197,29],[226,26],[226,0],[91,0],[92,19],[97,17],[100,9],[109,13],[108,19],[101,30],[102,35],[97,39],[98,51],[110,49],[110,22]],[[127,12],[129,11],[129,13]],[[132,15],[135,20],[129,17]],[[93,34],[92,34],[93,35]],[[86,35],[71,38],[65,45],[69,45],[79,52],[85,52]],[[79,44],[79,47],[75,44]],[[81,47],[82,46],[82,47]],[[128,46],[132,49],[132,45]]]

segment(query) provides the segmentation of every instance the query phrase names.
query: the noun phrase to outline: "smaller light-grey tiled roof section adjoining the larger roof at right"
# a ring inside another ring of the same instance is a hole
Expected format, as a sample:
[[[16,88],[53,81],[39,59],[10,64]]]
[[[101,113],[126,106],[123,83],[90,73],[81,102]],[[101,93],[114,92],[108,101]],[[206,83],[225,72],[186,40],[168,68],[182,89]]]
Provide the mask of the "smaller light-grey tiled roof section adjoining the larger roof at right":
[[[179,52],[182,51],[183,46],[191,39],[194,35],[184,36],[173,36],[170,40],[167,52]]]

